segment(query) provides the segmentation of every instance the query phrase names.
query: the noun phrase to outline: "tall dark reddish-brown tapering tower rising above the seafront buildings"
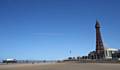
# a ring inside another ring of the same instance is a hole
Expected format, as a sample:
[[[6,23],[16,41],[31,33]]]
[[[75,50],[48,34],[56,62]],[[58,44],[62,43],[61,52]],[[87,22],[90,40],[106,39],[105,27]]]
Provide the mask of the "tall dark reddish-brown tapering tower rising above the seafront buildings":
[[[104,45],[101,38],[100,32],[100,24],[99,21],[96,20],[96,59],[103,59],[104,58]]]

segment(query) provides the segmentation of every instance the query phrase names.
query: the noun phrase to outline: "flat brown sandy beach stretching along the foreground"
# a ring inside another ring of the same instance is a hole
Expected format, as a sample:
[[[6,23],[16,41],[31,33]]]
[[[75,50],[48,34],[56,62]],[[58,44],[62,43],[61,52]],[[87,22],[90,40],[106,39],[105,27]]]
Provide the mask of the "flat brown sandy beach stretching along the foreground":
[[[8,64],[0,70],[120,70],[120,64],[52,63],[52,64]]]

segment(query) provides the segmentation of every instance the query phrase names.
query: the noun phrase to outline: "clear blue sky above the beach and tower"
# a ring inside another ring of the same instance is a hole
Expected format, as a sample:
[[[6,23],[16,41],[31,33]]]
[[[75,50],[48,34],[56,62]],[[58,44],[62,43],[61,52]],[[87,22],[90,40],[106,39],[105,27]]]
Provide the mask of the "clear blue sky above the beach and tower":
[[[120,48],[119,7],[119,0],[0,0],[0,59],[87,55],[96,19],[105,47]]]

